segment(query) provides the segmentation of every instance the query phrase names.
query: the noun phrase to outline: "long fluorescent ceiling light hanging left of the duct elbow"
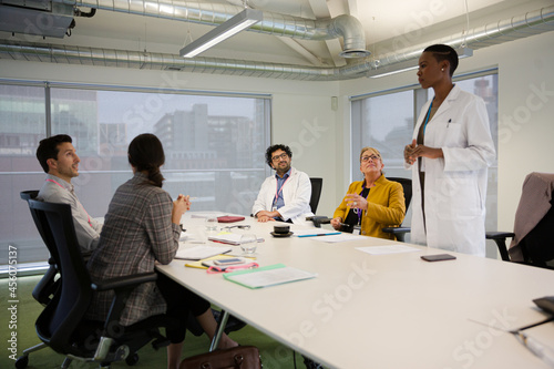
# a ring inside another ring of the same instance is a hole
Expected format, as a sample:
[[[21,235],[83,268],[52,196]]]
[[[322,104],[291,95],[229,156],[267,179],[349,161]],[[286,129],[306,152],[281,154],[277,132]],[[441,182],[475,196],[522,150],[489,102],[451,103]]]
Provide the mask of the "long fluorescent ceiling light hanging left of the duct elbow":
[[[193,58],[213,45],[230,38],[240,32],[245,28],[250,27],[263,20],[263,13],[259,10],[245,9],[225,23],[217,25],[212,31],[207,32],[196,41],[191,42],[179,50],[179,55],[183,58]]]

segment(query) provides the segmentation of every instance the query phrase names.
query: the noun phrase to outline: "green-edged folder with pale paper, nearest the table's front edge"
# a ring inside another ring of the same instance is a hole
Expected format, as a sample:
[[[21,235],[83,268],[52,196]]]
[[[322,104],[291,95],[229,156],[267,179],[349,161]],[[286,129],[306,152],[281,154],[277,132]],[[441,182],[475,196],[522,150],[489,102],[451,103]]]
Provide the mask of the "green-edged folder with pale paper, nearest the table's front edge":
[[[296,280],[315,278],[317,274],[275,264],[257,269],[238,270],[223,277],[248,288],[263,288]]]

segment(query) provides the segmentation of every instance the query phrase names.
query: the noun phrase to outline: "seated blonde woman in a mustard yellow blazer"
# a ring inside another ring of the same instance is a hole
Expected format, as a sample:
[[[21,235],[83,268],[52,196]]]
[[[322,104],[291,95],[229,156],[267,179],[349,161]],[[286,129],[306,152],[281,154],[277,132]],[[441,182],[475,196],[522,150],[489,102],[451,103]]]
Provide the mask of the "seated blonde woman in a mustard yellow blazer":
[[[372,147],[360,153],[360,172],[363,181],[352,182],[348,193],[332,215],[331,225],[340,229],[343,224],[361,225],[365,236],[394,239],[381,229],[399,226],[406,215],[404,192],[398,182],[382,174],[381,154]]]

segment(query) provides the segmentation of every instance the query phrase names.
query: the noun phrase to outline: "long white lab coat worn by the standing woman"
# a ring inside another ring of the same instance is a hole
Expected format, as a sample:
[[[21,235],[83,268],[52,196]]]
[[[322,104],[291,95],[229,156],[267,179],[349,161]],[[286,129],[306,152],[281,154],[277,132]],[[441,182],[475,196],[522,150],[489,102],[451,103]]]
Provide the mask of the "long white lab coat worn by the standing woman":
[[[413,139],[418,136],[430,104],[428,101],[421,110]],[[444,157],[419,158],[425,172],[427,235],[418,163],[411,165],[411,242],[484,256],[486,172],[494,161],[495,150],[483,100],[454,85],[428,123],[423,143],[441,147]]]

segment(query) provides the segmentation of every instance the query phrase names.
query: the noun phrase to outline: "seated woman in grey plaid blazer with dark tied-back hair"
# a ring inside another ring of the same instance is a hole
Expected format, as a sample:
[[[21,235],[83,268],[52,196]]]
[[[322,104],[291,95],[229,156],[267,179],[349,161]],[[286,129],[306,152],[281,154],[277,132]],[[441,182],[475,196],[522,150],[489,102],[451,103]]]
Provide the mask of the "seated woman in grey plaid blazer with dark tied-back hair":
[[[173,202],[162,189],[164,177],[160,167],[165,155],[155,135],[136,136],[127,154],[134,175],[117,188],[110,203],[99,247],[88,265],[93,281],[151,273],[155,262],[171,263],[178,248],[181,217],[191,208],[188,196],[179,194]],[[94,294],[88,318],[104,320],[112,298],[111,291]],[[167,368],[175,369],[181,361],[188,311],[213,338],[217,324],[209,303],[160,274],[156,283],[143,284],[133,290],[120,324],[130,326],[164,312],[178,320],[178,326],[166,329],[171,341]],[[219,348],[233,346],[237,344],[224,335]]]

